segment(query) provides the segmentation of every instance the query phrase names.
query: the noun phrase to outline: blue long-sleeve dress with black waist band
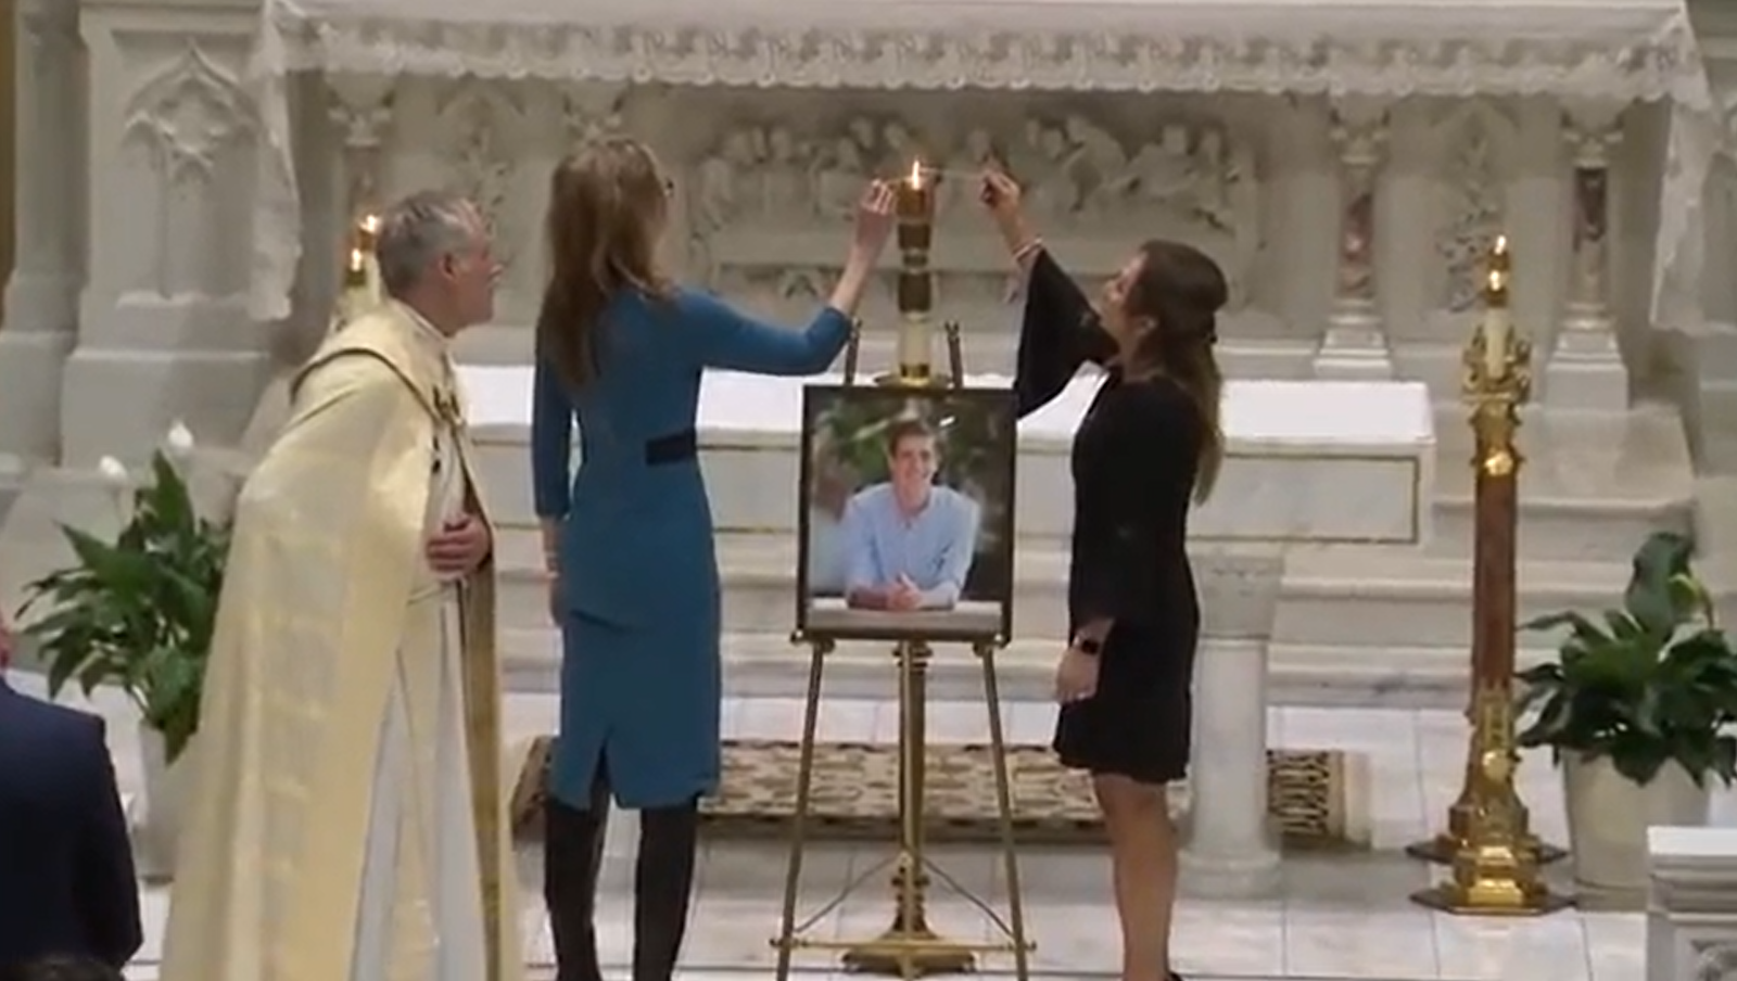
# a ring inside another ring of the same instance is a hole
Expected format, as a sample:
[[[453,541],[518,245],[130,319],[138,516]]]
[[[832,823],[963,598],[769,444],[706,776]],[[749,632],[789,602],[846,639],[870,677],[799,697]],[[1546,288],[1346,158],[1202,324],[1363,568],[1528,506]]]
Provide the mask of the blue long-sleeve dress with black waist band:
[[[806,330],[698,292],[617,297],[601,372],[568,391],[538,358],[537,516],[561,523],[561,728],[549,793],[584,811],[599,760],[622,807],[672,807],[719,776],[719,578],[695,420],[705,368],[811,375],[849,339],[823,309]],[[580,465],[568,483],[573,424]]]

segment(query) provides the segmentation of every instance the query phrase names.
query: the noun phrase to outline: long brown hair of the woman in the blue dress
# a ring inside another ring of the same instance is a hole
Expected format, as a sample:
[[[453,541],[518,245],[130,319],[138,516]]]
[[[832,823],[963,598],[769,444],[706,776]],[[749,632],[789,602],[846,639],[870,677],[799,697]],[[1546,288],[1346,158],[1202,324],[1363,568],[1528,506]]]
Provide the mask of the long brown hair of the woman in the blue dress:
[[[573,389],[603,368],[601,316],[620,290],[665,297],[657,238],[669,182],[639,141],[610,137],[561,160],[549,181],[549,285],[537,356]]]

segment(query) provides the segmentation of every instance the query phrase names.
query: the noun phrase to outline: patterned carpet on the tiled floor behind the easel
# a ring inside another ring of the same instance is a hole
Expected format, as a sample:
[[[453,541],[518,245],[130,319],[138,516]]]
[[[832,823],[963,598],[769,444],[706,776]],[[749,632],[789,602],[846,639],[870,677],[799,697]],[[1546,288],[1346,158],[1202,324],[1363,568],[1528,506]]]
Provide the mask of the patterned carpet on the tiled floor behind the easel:
[[[521,840],[542,839],[542,802],[551,738],[537,738],[512,795]],[[822,743],[815,748],[809,833],[815,840],[889,840],[898,830],[898,748],[881,743]],[[794,741],[724,743],[724,778],[702,804],[705,833],[724,839],[782,839],[796,802]],[[1336,750],[1270,750],[1268,811],[1292,849],[1367,847],[1362,769]],[[929,840],[997,840],[995,773],[988,747],[931,747],[928,757]],[[1082,773],[1056,764],[1047,747],[1009,747],[1014,832],[1021,844],[1096,844],[1103,823]],[[1186,785],[1171,806],[1185,806]]]

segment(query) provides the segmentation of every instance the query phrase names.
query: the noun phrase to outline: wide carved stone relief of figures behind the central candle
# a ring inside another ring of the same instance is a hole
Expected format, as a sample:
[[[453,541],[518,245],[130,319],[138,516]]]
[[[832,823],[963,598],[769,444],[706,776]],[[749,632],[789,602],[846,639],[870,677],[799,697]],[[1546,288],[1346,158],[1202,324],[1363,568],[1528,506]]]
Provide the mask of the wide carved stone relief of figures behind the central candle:
[[[1259,250],[1254,153],[1214,125],[1169,123],[1115,135],[1087,115],[964,128],[950,139],[895,116],[832,116],[799,128],[783,118],[723,130],[691,163],[688,227],[707,276],[743,299],[794,300],[841,255],[842,224],[870,177],[898,177],[919,156],[940,168],[931,266],[940,304],[1002,304],[1007,260],[976,207],[974,174],[1001,161],[1025,186],[1046,238],[1080,274],[1108,274],[1131,243],[1162,236],[1211,253],[1247,299]],[[1072,247],[1072,248],[1070,248]]]

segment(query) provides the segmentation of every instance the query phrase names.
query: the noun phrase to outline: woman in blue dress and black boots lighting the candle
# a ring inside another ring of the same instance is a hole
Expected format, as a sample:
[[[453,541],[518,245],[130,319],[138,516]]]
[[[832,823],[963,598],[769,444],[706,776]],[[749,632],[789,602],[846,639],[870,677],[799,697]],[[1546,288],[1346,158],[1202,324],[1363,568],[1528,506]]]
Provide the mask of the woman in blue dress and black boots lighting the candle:
[[[707,368],[811,375],[849,340],[893,227],[874,182],[832,299],[785,330],[657,266],[672,184],[631,139],[556,167],[537,316],[532,483],[561,629],[544,899],[558,981],[601,981],[592,906],[613,797],[641,813],[634,981],[669,981],[693,886],[698,799],[719,778],[719,580],[695,417]],[[570,483],[573,422],[580,465]]]

